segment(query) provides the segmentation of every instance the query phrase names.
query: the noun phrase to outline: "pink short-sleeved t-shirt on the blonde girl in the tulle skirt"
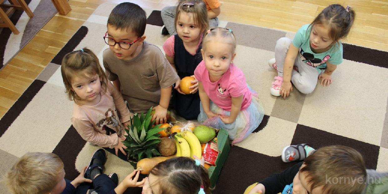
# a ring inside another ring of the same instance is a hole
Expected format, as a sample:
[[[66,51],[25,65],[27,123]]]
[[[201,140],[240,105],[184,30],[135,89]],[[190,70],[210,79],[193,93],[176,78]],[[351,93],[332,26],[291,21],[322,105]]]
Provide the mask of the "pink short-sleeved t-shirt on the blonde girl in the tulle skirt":
[[[201,81],[203,88],[209,99],[217,106],[226,111],[232,107],[232,97],[242,97],[241,110],[246,109],[252,100],[252,93],[246,85],[245,76],[242,71],[233,63],[229,69],[216,82],[211,82],[209,71],[206,69],[205,62],[201,61],[194,71],[198,81]]]

